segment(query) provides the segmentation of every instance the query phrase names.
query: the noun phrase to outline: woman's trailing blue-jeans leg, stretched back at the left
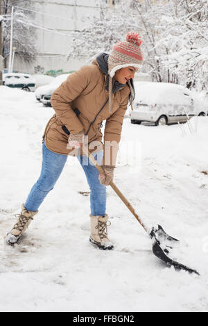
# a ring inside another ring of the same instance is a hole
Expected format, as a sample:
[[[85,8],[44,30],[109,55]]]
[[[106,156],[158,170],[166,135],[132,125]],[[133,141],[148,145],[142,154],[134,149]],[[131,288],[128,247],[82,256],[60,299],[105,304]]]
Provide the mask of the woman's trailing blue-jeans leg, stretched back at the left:
[[[67,161],[66,155],[55,154],[42,146],[42,171],[24,204],[28,211],[37,211],[44,198],[55,186]]]

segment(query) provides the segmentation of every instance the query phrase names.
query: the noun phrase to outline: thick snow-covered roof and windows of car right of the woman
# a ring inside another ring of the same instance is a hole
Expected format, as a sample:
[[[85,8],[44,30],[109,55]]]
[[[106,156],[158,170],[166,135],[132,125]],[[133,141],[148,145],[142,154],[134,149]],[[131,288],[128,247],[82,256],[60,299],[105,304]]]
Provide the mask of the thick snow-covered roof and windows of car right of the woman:
[[[173,83],[135,82],[135,102],[145,104],[190,105],[192,93],[182,85]]]

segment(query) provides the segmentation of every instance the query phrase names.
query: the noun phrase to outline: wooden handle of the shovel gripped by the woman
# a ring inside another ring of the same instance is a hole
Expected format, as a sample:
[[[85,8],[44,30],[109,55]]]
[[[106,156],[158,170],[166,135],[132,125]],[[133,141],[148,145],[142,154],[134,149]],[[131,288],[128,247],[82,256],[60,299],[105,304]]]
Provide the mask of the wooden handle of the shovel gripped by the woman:
[[[103,168],[101,167],[101,165],[98,164],[98,162],[95,160],[94,156],[89,152],[88,147],[85,146],[85,145],[83,146],[83,152],[85,153],[85,155],[88,156],[89,160],[92,161],[92,163],[98,169],[98,171],[101,172],[101,174],[105,174],[105,172],[103,171]],[[113,181],[110,182],[110,186],[114,190],[114,192],[121,198],[123,204],[125,204],[125,206],[127,206],[127,208],[130,210],[130,212],[135,216],[135,218],[141,224],[141,226],[144,227],[145,231],[148,232],[148,229],[146,228],[146,226],[144,225],[144,223],[141,222],[139,216],[135,212],[135,209],[132,207],[132,205],[130,204],[130,202],[128,202],[128,200],[123,196],[123,193],[121,193],[121,191],[114,184]]]

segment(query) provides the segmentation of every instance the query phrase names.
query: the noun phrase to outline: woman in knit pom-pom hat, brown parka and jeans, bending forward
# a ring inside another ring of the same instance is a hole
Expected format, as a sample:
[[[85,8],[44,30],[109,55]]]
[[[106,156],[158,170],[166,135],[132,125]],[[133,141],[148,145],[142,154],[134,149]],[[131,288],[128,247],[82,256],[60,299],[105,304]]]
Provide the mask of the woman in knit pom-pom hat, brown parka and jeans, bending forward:
[[[43,136],[42,171],[22,204],[21,213],[10,233],[8,244],[17,243],[37,214],[44,198],[55,186],[67,161],[76,156],[91,190],[90,242],[103,250],[112,250],[107,237],[106,186],[114,177],[116,155],[121,139],[123,117],[135,96],[133,79],[141,67],[141,38],[128,33],[125,42],[114,45],[110,55],[100,54],[92,65],[71,74],[55,90],[51,104],[55,115],[49,120]],[[106,120],[104,144],[102,122]],[[83,153],[88,145],[105,174],[98,172]]]

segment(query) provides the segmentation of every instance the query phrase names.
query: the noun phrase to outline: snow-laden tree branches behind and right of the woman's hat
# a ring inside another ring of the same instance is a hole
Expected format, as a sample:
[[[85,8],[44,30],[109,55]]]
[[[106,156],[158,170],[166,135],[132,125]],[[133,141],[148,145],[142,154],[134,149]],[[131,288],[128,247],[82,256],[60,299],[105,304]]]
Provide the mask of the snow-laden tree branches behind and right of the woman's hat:
[[[207,0],[120,0],[114,9],[101,11],[100,19],[91,17],[91,24],[73,35],[68,58],[110,51],[133,30],[141,33],[144,70],[153,80],[208,87]]]

